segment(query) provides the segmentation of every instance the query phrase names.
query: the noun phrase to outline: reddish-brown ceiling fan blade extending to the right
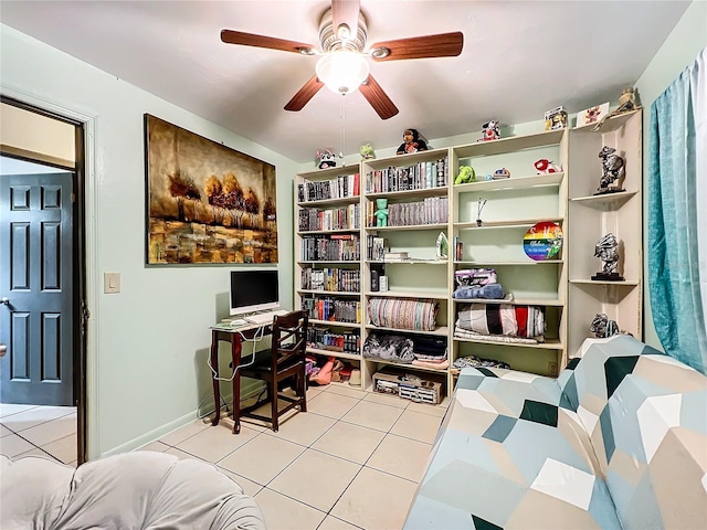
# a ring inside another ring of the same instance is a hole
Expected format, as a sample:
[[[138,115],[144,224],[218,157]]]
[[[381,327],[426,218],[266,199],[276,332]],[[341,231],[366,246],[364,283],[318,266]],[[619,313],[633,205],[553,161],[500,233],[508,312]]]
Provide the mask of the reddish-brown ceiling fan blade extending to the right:
[[[373,61],[401,61],[403,59],[454,57],[462,53],[464,34],[461,31],[436,35],[411,36],[378,42],[371,46]],[[387,50],[388,55],[379,51]]]

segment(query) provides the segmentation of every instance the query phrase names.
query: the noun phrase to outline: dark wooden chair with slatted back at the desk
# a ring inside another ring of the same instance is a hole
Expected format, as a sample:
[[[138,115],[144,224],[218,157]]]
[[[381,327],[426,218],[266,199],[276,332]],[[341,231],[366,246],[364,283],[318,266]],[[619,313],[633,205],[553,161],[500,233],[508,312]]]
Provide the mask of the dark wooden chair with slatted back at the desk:
[[[307,311],[304,310],[291,311],[275,317],[271,349],[256,352],[255,362],[240,370],[243,377],[265,381],[267,384],[266,399],[243,409],[241,416],[270,422],[273,431],[277,432],[279,416],[284,413],[295,406],[299,406],[300,412],[307,412],[305,357],[308,322]],[[243,359],[244,364],[250,361],[249,358]],[[278,390],[281,382],[286,379],[294,380],[294,398]],[[271,417],[253,412],[268,401],[271,402]],[[281,401],[287,402],[283,409],[278,406]]]

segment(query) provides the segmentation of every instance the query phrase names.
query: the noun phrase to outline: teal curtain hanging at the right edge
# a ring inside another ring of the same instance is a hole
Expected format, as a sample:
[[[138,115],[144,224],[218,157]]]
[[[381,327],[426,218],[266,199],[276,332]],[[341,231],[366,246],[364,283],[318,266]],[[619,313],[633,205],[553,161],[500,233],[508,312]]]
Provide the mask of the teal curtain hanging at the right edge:
[[[648,289],[665,352],[707,373],[707,82],[704,50],[651,106]]]

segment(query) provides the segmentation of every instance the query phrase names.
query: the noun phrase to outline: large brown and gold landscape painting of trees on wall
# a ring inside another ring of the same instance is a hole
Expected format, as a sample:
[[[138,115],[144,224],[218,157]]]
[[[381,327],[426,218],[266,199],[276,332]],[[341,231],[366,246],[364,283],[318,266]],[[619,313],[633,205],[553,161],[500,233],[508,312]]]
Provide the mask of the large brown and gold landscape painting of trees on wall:
[[[276,264],[276,168],[144,115],[147,265]]]

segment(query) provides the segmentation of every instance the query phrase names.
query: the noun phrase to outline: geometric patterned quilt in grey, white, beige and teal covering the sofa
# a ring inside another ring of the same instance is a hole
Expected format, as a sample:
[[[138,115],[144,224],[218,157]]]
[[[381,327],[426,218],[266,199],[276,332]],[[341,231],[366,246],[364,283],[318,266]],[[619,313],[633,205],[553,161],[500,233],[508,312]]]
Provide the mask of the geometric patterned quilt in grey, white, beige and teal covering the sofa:
[[[706,422],[707,378],[630,336],[466,368],[404,528],[707,528]]]

